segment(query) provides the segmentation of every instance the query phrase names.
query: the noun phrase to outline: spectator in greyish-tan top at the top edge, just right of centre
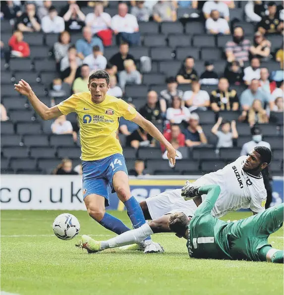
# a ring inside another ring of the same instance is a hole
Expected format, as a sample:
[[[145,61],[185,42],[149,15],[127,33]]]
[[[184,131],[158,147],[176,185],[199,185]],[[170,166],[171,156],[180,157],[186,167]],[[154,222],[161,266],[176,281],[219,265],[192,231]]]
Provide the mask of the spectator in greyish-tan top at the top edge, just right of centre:
[[[172,1],[158,1],[153,7],[153,19],[156,22],[176,21],[176,8]]]

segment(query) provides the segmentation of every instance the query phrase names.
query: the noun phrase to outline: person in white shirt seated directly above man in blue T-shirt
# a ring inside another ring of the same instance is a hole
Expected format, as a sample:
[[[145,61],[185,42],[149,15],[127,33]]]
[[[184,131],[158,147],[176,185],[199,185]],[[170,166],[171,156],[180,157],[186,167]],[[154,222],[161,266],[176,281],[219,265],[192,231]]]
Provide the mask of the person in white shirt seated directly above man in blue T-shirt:
[[[96,34],[112,26],[112,17],[109,13],[104,12],[103,4],[98,3],[94,8],[94,12],[86,15],[85,23],[92,29],[92,33]]]

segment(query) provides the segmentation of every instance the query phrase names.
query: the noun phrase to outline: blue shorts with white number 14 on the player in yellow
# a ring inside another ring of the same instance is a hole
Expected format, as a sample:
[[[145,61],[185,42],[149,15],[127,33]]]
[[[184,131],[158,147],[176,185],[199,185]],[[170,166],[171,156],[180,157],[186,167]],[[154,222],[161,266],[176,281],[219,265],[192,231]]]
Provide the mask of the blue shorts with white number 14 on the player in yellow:
[[[83,198],[91,194],[103,196],[106,207],[110,206],[110,187],[114,193],[114,173],[124,171],[128,175],[124,157],[120,153],[96,161],[82,161],[82,170]]]

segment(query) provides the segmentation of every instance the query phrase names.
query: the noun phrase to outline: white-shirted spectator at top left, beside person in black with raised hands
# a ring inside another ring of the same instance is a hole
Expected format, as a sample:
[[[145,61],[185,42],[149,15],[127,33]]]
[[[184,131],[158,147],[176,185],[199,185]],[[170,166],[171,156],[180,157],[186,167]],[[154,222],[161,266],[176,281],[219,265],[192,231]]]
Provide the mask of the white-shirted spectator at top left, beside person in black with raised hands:
[[[55,6],[50,6],[49,14],[42,19],[42,30],[45,33],[61,33],[64,29],[64,19],[57,15]]]

